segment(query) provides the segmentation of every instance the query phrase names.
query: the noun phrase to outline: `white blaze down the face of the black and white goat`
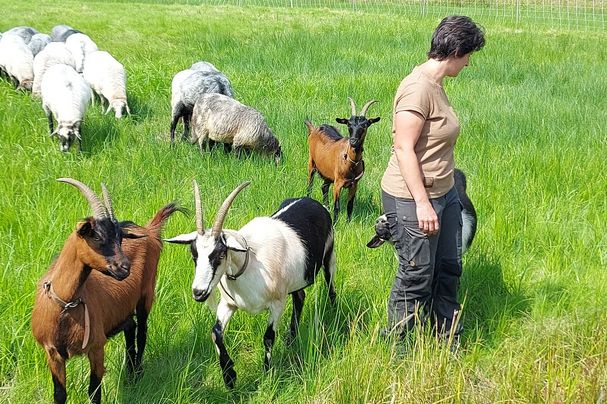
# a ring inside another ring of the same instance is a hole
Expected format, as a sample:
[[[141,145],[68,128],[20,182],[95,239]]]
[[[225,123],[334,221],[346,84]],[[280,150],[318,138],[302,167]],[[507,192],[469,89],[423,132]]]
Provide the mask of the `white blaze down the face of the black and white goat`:
[[[225,273],[227,247],[210,234],[198,236],[192,255],[196,260],[196,273],[192,282],[194,299],[204,301]]]

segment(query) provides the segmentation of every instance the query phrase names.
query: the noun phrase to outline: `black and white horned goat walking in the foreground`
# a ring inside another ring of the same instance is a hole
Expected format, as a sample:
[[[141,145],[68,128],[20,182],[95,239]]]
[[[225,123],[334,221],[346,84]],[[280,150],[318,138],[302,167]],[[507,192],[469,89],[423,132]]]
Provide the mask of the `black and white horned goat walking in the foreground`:
[[[196,231],[165,240],[190,245],[196,268],[192,284],[194,300],[206,301],[219,285],[221,300],[211,337],[219,353],[223,380],[229,388],[234,387],[236,372],[223,334],[237,309],[251,314],[270,311],[263,337],[267,370],[287,296],[293,298],[291,339],[297,333],[304,288],[314,283],[321,266],[332,302],[336,296],[333,227],[327,209],[310,198],[287,199],[270,217],[256,217],[238,231],[224,229],[230,205],[247,185],[249,182],[232,191],[221,205],[212,229],[205,230],[198,184],[194,181]]]

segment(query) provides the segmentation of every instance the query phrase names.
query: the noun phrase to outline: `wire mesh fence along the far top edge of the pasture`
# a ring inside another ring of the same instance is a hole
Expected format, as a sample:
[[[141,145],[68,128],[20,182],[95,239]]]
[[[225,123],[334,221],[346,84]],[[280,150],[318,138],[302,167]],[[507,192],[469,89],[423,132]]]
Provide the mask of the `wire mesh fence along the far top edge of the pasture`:
[[[141,1],[141,0],[140,0]],[[146,0],[142,0],[146,1]],[[154,0],[155,3],[329,8],[443,17],[465,14],[533,28],[605,30],[607,0]]]

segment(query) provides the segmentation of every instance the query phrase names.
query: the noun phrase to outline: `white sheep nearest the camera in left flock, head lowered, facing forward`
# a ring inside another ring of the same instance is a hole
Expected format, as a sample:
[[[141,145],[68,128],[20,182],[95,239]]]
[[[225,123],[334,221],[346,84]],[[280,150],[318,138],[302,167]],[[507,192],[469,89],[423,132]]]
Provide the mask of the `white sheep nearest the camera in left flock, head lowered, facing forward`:
[[[69,150],[74,139],[78,139],[78,150],[82,151],[80,125],[91,99],[91,88],[73,67],[53,65],[44,74],[41,89],[50,136],[59,138],[62,152]],[[55,130],[53,116],[57,120]]]

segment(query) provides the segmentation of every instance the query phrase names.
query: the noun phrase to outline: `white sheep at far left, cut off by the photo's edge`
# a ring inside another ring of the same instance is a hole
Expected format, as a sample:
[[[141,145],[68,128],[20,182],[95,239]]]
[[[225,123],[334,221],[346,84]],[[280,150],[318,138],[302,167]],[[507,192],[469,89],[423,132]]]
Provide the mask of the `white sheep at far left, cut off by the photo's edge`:
[[[34,56],[17,35],[5,35],[0,41],[0,68],[17,90],[31,90],[34,79]]]

